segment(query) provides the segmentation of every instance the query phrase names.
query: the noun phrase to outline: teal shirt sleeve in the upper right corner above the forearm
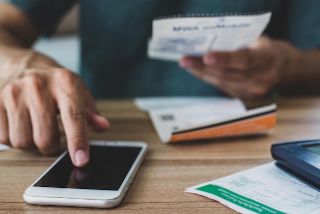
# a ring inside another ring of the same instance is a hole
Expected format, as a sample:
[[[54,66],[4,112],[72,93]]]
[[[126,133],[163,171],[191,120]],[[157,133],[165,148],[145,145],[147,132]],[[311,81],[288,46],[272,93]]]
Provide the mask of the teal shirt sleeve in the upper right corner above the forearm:
[[[287,39],[303,50],[320,47],[320,1],[290,0],[287,10]]]

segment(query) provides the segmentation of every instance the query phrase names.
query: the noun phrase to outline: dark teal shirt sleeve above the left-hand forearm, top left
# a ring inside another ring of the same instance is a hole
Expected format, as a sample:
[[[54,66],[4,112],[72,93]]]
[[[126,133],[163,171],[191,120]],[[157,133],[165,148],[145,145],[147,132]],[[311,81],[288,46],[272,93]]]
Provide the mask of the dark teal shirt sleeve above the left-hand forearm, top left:
[[[0,0],[24,12],[44,36],[52,35],[76,0]]]

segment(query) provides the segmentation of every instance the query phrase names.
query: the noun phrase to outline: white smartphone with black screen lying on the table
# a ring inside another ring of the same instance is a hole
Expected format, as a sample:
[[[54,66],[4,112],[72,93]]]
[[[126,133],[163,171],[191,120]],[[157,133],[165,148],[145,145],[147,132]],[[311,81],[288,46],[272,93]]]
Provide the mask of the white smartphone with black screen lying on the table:
[[[147,153],[147,144],[131,141],[90,141],[90,161],[76,167],[64,152],[24,194],[30,204],[117,206],[125,196]]]

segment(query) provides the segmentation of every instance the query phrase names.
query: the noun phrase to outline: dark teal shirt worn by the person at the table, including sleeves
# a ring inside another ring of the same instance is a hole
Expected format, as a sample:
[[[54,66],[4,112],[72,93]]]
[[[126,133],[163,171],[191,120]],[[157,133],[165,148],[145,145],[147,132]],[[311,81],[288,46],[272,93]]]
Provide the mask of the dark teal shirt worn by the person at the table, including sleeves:
[[[7,0],[8,1],[8,0]],[[72,0],[9,0],[51,35]],[[264,34],[300,49],[320,45],[318,0],[80,0],[80,74],[96,98],[225,95],[180,69],[149,59],[147,40],[158,16],[272,11]]]

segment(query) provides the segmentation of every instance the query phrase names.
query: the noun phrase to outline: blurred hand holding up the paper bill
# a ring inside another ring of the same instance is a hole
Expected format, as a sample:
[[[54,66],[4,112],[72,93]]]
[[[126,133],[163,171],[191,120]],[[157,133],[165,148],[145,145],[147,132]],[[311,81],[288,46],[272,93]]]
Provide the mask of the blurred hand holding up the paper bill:
[[[209,52],[202,58],[186,56],[179,65],[233,97],[256,99],[282,76],[285,59],[277,50],[275,42],[260,37],[250,49]]]

